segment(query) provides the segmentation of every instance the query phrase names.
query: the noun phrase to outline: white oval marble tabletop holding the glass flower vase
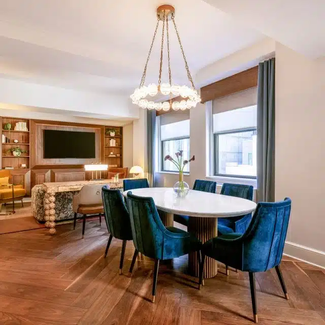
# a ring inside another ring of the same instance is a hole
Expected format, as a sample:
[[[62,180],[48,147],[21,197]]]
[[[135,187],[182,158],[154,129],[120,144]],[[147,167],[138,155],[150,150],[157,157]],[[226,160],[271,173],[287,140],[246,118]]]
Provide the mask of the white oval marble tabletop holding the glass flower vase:
[[[234,217],[255,210],[256,203],[216,193],[189,190],[185,198],[178,198],[173,188],[151,187],[132,189],[139,197],[151,197],[156,207],[165,212],[193,217]],[[124,191],[126,196],[128,191]]]

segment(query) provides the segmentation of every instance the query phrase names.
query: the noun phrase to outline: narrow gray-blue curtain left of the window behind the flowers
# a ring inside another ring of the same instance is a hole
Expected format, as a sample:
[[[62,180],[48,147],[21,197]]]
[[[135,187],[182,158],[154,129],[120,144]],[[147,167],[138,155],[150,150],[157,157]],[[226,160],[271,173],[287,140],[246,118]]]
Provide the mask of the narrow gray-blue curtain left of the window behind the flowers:
[[[155,136],[156,134],[156,110],[147,111],[147,157],[148,180],[151,187],[155,186]]]

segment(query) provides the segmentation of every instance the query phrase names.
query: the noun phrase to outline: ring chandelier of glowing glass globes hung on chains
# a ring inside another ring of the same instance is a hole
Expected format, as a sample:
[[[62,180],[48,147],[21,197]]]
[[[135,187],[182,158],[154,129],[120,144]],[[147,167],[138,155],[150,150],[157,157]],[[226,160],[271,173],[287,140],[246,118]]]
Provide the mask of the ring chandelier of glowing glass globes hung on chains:
[[[157,8],[157,25],[153,34],[151,46],[149,49],[148,57],[146,60],[146,64],[144,67],[144,71],[142,74],[141,82],[138,88],[135,89],[133,94],[130,96],[132,99],[132,103],[140,106],[141,108],[152,110],[155,109],[157,111],[169,111],[173,109],[174,111],[186,110],[192,107],[196,107],[197,103],[201,102],[200,95],[198,94],[197,90],[194,87],[194,83],[191,77],[191,74],[188,69],[188,64],[185,58],[184,50],[182,47],[182,43],[178,34],[178,30],[175,23],[175,8],[171,5],[162,5]],[[185,62],[185,69],[187,73],[187,78],[190,82],[191,87],[186,85],[177,85],[172,84],[172,72],[171,72],[171,65],[170,65],[170,51],[169,51],[169,26],[168,21],[172,20],[176,35],[178,38],[178,42],[180,45],[181,52],[183,54],[184,62]],[[159,22],[163,21],[163,32],[161,36],[161,48],[160,48],[160,66],[159,66],[159,78],[158,78],[158,85],[154,83],[150,83],[147,86],[144,85],[146,79],[146,72],[147,66],[152,50],[152,46],[157,34],[157,29],[159,26]],[[169,83],[161,83],[161,71],[163,69],[163,53],[164,53],[164,37],[165,37],[165,25],[166,25],[166,36],[167,36],[167,58],[168,58],[168,75],[169,75]],[[154,102],[152,100],[153,96],[156,95],[169,95],[169,99],[165,100],[164,102]],[[180,96],[181,100],[176,101],[173,100],[174,96]],[[151,97],[151,99],[150,99]],[[148,99],[149,98],[149,99]]]

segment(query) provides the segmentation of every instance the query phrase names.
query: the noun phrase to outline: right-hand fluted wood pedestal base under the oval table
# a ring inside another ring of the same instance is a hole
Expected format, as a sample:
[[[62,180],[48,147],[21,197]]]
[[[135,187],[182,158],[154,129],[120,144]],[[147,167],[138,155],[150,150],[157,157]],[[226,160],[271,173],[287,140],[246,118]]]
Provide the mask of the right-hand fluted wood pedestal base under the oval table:
[[[189,217],[187,231],[196,236],[204,244],[218,234],[218,218]],[[192,276],[199,276],[198,253],[188,254],[188,272]],[[204,266],[204,278],[213,278],[217,275],[218,264],[215,259],[206,257]]]

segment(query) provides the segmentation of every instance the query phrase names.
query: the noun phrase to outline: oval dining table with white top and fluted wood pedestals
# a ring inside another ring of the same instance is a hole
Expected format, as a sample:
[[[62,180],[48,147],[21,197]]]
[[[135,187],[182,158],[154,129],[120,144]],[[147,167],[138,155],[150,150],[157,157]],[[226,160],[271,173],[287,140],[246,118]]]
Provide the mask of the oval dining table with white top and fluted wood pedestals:
[[[148,187],[137,188],[127,192],[139,197],[151,197],[157,207],[159,216],[165,226],[174,226],[174,214],[187,215],[187,231],[205,243],[218,235],[218,218],[245,215],[255,210],[252,201],[190,189],[185,197],[178,197],[173,188]],[[218,265],[215,259],[206,258],[204,277],[216,276]],[[199,276],[197,252],[188,254],[188,272]]]

